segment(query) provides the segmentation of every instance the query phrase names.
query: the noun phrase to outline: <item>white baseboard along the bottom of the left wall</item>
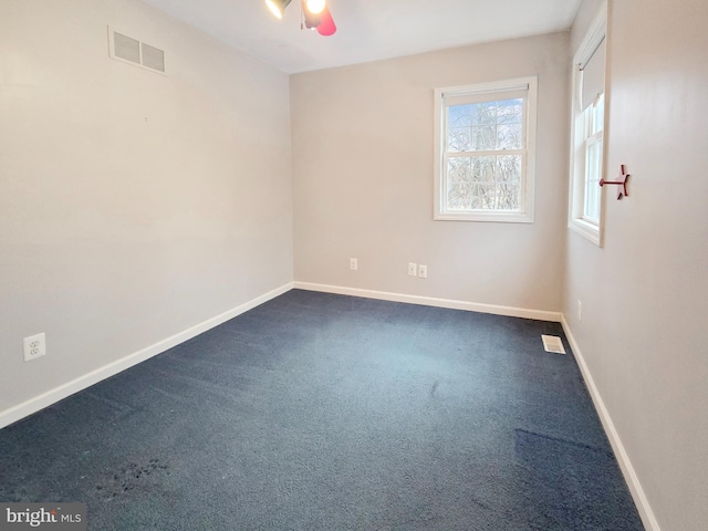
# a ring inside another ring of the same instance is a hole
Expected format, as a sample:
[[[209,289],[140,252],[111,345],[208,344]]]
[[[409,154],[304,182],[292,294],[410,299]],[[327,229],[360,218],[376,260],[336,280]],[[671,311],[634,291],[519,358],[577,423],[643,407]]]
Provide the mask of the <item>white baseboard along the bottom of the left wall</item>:
[[[111,376],[114,376],[125,371],[126,368],[149,360],[150,357],[156,356],[157,354],[160,354],[171,348],[173,346],[177,346],[180,343],[184,343],[185,341],[188,341],[206,332],[207,330],[226,323],[230,319],[233,319],[241,313],[248,312],[249,310],[292,290],[292,288],[293,283],[289,282],[284,285],[281,285],[280,288],[277,288],[272,291],[269,291],[268,293],[264,293],[260,296],[257,296],[256,299],[252,299],[243,304],[228,310],[215,317],[208,319],[207,321],[204,321],[199,324],[196,324],[195,326],[191,326],[183,332],[167,337],[166,340],[159,341],[146,348],[129,354],[101,368],[92,371],[88,374],[80,376],[79,378],[73,379],[72,382],[69,382],[64,385],[60,385],[59,387],[48,391],[46,393],[35,396],[34,398],[30,398],[29,400],[6,409],[4,412],[0,412],[0,429],[29,415],[32,415],[33,413],[44,409],[45,407],[51,406],[52,404],[55,404],[59,400],[73,395],[74,393],[79,393],[80,391],[85,389],[86,387],[91,387],[92,385],[103,379],[110,378]]]

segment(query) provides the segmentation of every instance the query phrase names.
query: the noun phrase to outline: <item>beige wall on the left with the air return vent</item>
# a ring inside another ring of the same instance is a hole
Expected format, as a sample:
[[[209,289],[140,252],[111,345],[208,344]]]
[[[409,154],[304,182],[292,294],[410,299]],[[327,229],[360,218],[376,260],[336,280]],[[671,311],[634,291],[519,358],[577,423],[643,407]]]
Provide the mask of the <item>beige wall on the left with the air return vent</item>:
[[[291,282],[288,76],[137,1],[2,0],[0,249],[0,413]]]

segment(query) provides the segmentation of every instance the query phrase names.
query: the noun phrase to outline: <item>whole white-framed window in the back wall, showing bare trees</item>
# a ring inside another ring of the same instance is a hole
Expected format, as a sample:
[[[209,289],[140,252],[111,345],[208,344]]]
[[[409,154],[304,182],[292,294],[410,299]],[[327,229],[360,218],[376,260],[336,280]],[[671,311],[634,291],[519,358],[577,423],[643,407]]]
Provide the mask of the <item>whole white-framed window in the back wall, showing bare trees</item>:
[[[435,91],[435,219],[533,222],[537,79]]]

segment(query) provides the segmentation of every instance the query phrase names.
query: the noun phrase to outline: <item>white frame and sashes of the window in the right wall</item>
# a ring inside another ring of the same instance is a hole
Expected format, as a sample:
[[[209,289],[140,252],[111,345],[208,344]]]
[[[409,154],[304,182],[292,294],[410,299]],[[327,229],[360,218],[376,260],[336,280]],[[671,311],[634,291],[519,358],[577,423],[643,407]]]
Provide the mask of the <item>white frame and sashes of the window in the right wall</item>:
[[[571,154],[570,154],[570,197],[569,197],[569,216],[568,227],[574,232],[583,236],[587,240],[602,247],[604,219],[605,219],[605,194],[604,189],[600,190],[600,216],[597,220],[585,217],[585,190],[586,190],[586,160],[585,153],[589,142],[602,142],[602,164],[600,169],[600,178],[607,175],[607,117],[610,110],[607,94],[607,69],[605,66],[604,75],[604,116],[603,127],[600,138],[597,135],[589,137],[589,124],[582,108],[582,71],[579,65],[586,64],[593,56],[603,39],[607,38],[607,2],[603,1],[600,6],[597,14],[591,23],[585,37],[573,58],[573,80],[572,80],[572,107],[571,107]],[[605,63],[606,64],[606,63]]]

